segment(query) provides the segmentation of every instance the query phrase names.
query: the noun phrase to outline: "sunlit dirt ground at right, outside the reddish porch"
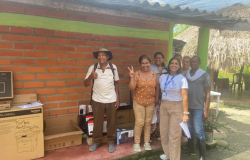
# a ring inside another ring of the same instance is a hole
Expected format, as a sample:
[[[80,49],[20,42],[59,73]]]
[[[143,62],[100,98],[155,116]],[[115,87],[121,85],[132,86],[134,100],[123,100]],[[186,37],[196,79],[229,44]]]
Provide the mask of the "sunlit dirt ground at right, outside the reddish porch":
[[[223,139],[230,146],[207,149],[208,160],[250,160],[250,103],[236,102],[220,103],[219,110],[225,111],[225,115],[220,117],[220,121],[229,123],[229,125],[221,128],[222,133],[214,134],[214,139]],[[215,102],[211,103],[211,108],[216,108]],[[196,149],[196,156],[181,156],[181,160],[198,160],[198,154],[199,151]],[[140,160],[160,160],[159,152],[157,155],[150,155]]]

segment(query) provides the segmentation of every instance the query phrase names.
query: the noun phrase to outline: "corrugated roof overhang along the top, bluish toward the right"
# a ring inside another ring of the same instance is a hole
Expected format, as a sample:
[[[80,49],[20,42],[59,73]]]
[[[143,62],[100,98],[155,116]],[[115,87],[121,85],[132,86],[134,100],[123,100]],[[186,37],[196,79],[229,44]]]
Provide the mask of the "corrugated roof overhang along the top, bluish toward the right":
[[[69,3],[74,1],[74,3]],[[205,10],[173,7],[168,4],[149,3],[147,0],[3,0],[28,5],[66,9],[86,13],[168,21],[219,30],[250,31],[247,20],[217,15]]]

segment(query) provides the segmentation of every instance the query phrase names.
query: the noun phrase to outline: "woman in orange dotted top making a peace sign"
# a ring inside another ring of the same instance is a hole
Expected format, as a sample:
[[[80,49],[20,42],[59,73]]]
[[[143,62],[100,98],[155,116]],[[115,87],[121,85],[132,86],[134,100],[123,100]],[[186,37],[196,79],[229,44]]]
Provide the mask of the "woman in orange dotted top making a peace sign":
[[[150,141],[151,121],[154,107],[159,103],[159,81],[157,73],[150,69],[151,59],[147,55],[139,58],[140,70],[134,72],[133,66],[128,67],[130,82],[129,89],[134,91],[133,108],[135,113],[134,151],[140,152],[140,139],[144,126],[145,150],[152,150]]]

